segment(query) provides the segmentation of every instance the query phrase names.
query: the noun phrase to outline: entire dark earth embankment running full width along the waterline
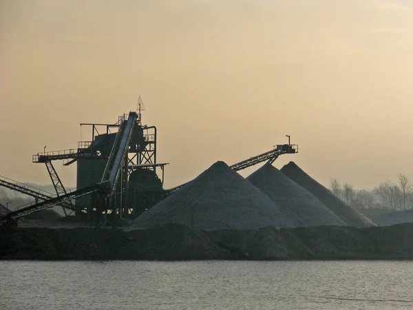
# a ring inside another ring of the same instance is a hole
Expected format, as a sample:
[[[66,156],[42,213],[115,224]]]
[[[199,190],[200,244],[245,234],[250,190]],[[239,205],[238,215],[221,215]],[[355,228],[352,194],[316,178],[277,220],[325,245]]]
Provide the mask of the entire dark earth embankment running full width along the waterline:
[[[0,259],[32,260],[306,260],[413,259],[413,224],[387,227],[267,227],[197,231],[10,228]]]

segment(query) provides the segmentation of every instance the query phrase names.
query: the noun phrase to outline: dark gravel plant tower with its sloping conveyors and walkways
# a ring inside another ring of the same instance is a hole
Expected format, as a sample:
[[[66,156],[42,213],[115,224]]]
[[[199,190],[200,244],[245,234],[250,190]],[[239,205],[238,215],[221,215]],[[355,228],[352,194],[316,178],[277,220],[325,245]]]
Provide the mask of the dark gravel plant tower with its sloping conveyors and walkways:
[[[81,123],[90,126],[89,141],[79,141],[76,149],[43,152],[32,156],[33,163],[44,163],[56,194],[40,191],[8,178],[0,178],[0,186],[17,190],[35,198],[28,206],[19,207],[0,221],[18,220],[40,209],[60,205],[65,215],[79,220],[103,223],[136,218],[165,196],[182,187],[163,189],[165,165],[156,161],[156,127],[142,125],[142,101],[138,111],[119,116],[114,124]],[[100,130],[100,132],[99,132]],[[268,152],[232,165],[235,171],[269,161],[282,154],[295,154],[297,145],[276,145]],[[76,189],[67,191],[54,169],[54,161],[63,165],[76,163]]]

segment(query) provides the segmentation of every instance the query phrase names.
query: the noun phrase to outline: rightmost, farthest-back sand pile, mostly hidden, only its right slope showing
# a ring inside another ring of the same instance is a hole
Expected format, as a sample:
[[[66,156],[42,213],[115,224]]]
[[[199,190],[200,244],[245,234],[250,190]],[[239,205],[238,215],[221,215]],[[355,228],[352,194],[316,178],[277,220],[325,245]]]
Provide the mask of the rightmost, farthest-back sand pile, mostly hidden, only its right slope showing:
[[[374,226],[374,223],[372,223],[371,220],[344,203],[343,200],[337,198],[332,192],[326,189],[326,187],[308,176],[308,174],[301,170],[301,168],[293,161],[290,161],[288,165],[282,167],[281,172],[316,196],[321,203],[324,203],[324,205],[337,214],[337,216],[344,220],[348,225],[356,227]]]

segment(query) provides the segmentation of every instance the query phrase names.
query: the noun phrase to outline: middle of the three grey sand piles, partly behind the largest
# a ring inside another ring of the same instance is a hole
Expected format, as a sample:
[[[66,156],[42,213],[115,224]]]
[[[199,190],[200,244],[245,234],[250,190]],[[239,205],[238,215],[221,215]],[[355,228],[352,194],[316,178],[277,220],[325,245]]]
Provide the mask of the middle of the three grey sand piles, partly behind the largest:
[[[247,180],[277,203],[296,227],[347,225],[313,194],[269,163],[248,176]]]

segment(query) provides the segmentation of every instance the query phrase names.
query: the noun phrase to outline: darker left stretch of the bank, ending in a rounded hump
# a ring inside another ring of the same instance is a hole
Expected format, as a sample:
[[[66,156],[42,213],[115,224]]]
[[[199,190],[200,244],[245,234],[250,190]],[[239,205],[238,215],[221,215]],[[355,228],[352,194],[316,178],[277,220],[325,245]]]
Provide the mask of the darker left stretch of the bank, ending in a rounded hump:
[[[158,229],[21,228],[1,231],[1,259],[210,260],[229,258],[207,235],[169,224]]]

